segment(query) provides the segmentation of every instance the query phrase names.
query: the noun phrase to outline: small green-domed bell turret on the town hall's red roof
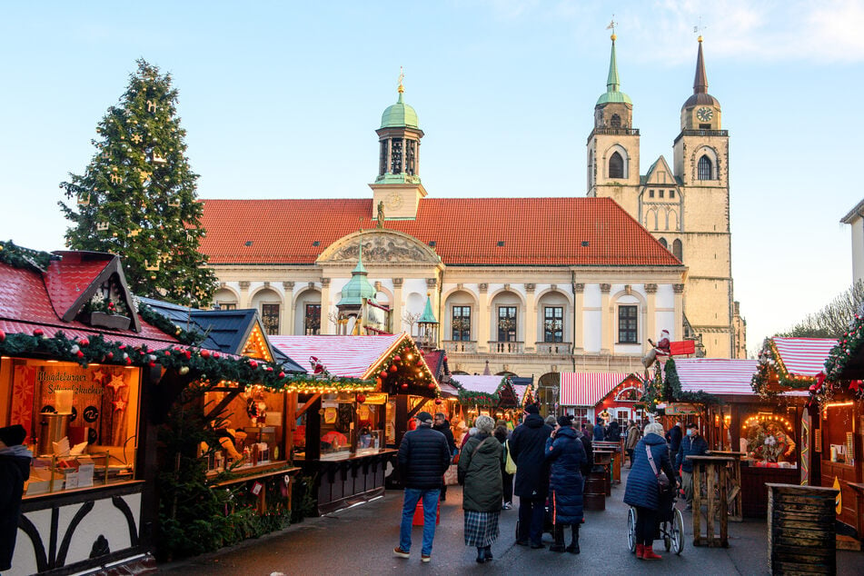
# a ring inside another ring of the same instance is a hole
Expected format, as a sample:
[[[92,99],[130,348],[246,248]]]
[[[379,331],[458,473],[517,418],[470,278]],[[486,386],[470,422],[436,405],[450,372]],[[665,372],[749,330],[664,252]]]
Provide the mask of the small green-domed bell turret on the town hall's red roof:
[[[420,181],[420,140],[423,131],[417,113],[404,103],[402,74],[399,75],[399,99],[384,110],[381,128],[376,130],[380,146],[378,177],[372,188],[372,218],[383,206],[387,220],[417,217],[417,206],[426,190]]]

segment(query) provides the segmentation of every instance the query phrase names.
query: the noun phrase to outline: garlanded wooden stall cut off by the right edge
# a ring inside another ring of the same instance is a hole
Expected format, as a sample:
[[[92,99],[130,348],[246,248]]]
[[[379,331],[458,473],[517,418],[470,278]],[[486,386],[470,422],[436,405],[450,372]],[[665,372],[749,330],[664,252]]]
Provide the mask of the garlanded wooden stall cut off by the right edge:
[[[856,315],[825,362],[826,378],[810,386],[819,409],[821,485],[839,489],[837,519],[864,541],[864,317]],[[816,482],[813,482],[814,484]],[[838,536],[838,541],[841,536]]]

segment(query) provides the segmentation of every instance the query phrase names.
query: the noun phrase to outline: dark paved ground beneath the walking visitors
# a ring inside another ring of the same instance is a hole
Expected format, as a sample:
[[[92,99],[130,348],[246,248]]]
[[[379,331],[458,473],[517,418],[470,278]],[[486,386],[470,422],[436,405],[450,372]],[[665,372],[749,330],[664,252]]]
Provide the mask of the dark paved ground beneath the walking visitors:
[[[492,545],[495,560],[474,561],[476,549],[462,540],[462,489],[452,486],[442,503],[441,525],[435,535],[432,562],[420,561],[422,528],[414,528],[412,557],[392,555],[399,541],[402,492],[387,492],[375,502],[321,518],[306,519],[276,534],[161,567],[173,574],[549,574],[581,571],[588,574],[768,574],[767,532],[764,521],[730,522],[730,548],[694,548],[690,513],[685,512],[688,540],[680,556],[663,551],[662,561],[637,561],[627,549],[627,511],[623,487],[612,489],[606,511],[586,512],[581,528],[581,554],[557,554],[514,544],[516,510],[502,511],[501,538]],[[690,524],[690,525],[688,525]],[[549,534],[545,535],[547,543]],[[864,574],[864,552],[838,551],[839,574]]]

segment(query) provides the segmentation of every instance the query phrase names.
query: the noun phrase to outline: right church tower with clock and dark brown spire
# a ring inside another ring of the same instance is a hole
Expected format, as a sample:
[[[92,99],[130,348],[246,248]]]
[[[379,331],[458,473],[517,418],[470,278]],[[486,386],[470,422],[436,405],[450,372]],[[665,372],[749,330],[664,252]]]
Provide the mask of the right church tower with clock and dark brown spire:
[[[733,297],[729,221],[729,133],[720,123],[720,102],[708,94],[702,37],[696,58],[693,94],[681,107],[675,138],[674,172],[680,184],[676,253],[689,272],[684,315],[693,335],[701,334],[709,356],[733,357]],[[649,230],[658,235],[657,232]]]

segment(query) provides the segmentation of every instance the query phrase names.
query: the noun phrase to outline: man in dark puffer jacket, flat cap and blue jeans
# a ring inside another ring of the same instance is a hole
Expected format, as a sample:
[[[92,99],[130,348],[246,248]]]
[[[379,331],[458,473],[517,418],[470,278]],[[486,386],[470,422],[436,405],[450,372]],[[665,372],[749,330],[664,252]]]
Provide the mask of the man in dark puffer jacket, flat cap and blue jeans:
[[[432,560],[438,496],[444,472],[450,466],[450,447],[441,432],[432,430],[432,414],[420,412],[414,418],[417,428],[406,432],[399,445],[397,462],[405,484],[402,501],[402,524],[399,545],[393,553],[400,558],[411,557],[411,527],[417,502],[423,502],[423,546],[421,561]]]

